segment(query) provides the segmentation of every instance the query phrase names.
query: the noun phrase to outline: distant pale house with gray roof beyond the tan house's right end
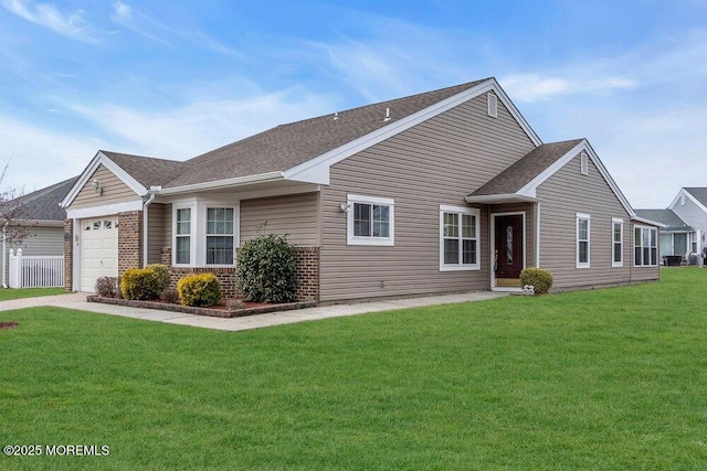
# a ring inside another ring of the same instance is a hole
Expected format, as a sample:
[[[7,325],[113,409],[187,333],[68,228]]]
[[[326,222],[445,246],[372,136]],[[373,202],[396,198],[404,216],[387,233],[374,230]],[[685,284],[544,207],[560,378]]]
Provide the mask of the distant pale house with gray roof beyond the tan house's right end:
[[[699,231],[688,225],[673,210],[636,210],[636,214],[645,220],[662,224],[661,260],[666,264],[666,257],[680,257],[689,260],[689,254],[696,251]],[[679,260],[678,260],[679,261]]]

